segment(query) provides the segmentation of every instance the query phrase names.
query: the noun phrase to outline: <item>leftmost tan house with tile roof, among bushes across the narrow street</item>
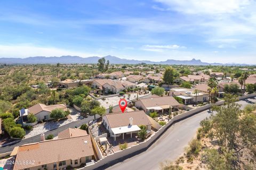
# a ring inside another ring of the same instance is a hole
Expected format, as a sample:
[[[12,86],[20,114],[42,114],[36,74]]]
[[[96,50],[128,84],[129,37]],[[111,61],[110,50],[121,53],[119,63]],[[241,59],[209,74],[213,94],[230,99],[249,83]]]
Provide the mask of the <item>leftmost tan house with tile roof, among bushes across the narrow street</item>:
[[[37,118],[37,121],[50,120],[51,111],[54,109],[62,109],[67,111],[67,106],[65,104],[54,104],[46,106],[45,104],[38,103],[28,109],[21,109],[20,117],[24,120],[28,114],[33,114]]]

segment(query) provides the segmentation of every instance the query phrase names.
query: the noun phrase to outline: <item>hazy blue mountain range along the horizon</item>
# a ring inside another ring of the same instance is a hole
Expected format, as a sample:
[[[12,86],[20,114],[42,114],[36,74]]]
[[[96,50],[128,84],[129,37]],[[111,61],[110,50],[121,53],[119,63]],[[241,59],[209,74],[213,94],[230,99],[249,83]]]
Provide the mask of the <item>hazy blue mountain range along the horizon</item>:
[[[198,65],[198,66],[248,66],[248,64],[237,64],[237,63],[207,63],[202,62],[201,60],[166,60],[166,61],[149,61],[149,60],[127,60],[120,59],[116,56],[107,55],[104,57],[106,60],[109,60],[111,64],[138,64],[138,63],[147,63],[147,64],[170,64],[170,65]],[[0,63],[2,64],[74,64],[74,63],[97,63],[100,59],[99,56],[90,56],[88,58],[82,58],[81,56],[32,56],[28,58],[0,58]]]

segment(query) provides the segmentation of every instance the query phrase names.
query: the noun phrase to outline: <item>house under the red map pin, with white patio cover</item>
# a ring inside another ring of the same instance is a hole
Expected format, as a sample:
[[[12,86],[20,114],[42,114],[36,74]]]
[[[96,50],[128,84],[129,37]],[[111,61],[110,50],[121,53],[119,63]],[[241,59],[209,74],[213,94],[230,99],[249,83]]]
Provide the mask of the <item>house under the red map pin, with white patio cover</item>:
[[[121,135],[123,135],[124,139],[124,134],[132,137],[132,134],[140,131],[140,125],[145,125],[148,133],[151,131],[150,120],[143,110],[125,112],[125,114],[122,112],[107,114],[102,117],[102,124],[115,140],[117,136]]]

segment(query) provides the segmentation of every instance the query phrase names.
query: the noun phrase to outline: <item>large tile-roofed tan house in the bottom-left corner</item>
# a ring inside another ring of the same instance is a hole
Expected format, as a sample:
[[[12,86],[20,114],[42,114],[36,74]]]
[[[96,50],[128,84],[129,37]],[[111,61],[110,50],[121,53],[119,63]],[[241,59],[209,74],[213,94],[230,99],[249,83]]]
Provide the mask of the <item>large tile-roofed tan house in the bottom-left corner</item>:
[[[95,159],[90,135],[21,145],[15,147],[11,155],[15,157],[14,170],[75,168]],[[23,164],[24,161],[27,162]]]

